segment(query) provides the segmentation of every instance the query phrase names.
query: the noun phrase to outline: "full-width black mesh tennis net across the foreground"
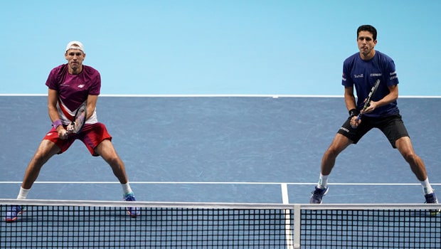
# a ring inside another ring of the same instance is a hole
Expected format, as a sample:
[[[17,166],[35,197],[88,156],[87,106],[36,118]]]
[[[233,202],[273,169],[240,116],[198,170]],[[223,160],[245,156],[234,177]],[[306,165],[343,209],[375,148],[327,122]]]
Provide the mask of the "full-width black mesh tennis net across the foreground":
[[[441,248],[441,205],[0,199],[0,248]]]

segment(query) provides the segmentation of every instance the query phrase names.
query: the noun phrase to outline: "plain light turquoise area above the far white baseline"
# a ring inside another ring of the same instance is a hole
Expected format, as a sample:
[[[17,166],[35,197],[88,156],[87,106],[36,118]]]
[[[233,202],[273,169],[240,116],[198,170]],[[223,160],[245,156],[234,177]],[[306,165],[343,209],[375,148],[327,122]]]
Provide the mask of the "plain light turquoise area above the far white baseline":
[[[103,95],[342,95],[372,24],[400,95],[441,95],[441,1],[1,1],[0,94],[45,94],[82,41]]]

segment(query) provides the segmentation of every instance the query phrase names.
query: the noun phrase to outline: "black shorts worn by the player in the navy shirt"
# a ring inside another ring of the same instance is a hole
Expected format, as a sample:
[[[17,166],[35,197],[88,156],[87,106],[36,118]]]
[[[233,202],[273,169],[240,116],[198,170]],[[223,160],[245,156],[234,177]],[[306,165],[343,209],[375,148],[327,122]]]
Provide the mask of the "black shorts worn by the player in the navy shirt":
[[[401,137],[409,137],[408,130],[405,129],[401,115],[392,115],[388,117],[367,117],[363,116],[361,124],[356,129],[351,127],[351,119],[348,118],[337,133],[351,139],[354,144],[368,133],[372,128],[378,128],[386,135],[390,145],[395,147],[395,141]]]

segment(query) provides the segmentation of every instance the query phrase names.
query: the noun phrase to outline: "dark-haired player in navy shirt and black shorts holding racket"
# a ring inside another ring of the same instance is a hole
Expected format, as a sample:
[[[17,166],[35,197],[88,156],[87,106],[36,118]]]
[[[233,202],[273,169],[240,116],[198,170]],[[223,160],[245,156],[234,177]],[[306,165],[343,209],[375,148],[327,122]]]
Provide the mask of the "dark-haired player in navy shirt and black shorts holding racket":
[[[336,157],[350,144],[356,144],[372,128],[380,129],[392,147],[398,149],[403,155],[423,186],[426,203],[438,203],[427,178],[425,164],[415,154],[398,110],[396,101],[398,99],[398,77],[395,64],[388,55],[375,50],[376,39],[376,28],[371,25],[358,27],[359,52],[344,60],[341,84],[344,85],[344,101],[349,110],[349,118],[324,152],[319,183],[312,192],[309,203],[322,203],[323,196],[329,190],[328,176],[334,167]],[[370,105],[366,110],[363,110],[364,102],[377,80],[380,80],[380,85],[371,98]],[[357,101],[354,96],[354,88]],[[357,119],[360,113],[363,117]]]

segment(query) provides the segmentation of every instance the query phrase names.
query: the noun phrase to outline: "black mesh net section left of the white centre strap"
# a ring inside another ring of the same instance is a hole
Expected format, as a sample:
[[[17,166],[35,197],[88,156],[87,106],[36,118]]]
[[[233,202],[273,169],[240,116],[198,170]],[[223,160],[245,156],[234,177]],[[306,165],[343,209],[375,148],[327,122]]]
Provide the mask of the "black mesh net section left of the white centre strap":
[[[127,202],[2,203],[3,217],[11,205],[25,211],[1,222],[0,248],[286,248],[291,239],[292,218],[267,206],[131,202],[141,209],[131,218]]]

